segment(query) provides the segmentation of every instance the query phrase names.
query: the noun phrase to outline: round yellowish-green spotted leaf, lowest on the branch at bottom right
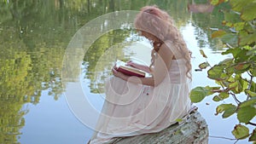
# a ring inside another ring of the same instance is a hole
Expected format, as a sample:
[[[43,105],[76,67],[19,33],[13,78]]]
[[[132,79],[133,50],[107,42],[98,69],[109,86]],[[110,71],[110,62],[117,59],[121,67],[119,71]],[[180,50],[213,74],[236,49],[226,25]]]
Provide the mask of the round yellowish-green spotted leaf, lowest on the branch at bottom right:
[[[238,140],[245,139],[249,136],[249,129],[244,125],[236,124],[234,130],[232,130],[232,134]]]

